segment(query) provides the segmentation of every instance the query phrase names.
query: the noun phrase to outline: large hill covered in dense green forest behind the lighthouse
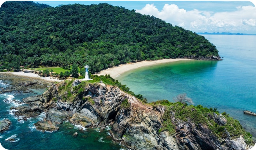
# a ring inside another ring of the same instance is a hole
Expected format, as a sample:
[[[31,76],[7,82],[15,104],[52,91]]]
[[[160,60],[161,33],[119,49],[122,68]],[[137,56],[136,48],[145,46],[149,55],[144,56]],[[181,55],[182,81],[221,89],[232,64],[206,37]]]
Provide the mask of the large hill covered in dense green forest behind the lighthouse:
[[[109,4],[51,7],[7,1],[0,9],[0,70],[90,65],[92,73],[134,60],[219,56],[203,36]]]

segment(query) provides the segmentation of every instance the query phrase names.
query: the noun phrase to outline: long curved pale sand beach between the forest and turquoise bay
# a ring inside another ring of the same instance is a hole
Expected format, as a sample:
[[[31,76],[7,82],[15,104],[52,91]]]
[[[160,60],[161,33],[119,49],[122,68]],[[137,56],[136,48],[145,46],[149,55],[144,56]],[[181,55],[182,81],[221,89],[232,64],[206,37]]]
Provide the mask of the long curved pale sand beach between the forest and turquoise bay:
[[[115,79],[119,75],[121,75],[127,71],[130,71],[132,69],[161,64],[161,63],[180,61],[180,60],[191,60],[191,59],[161,59],[161,60],[151,60],[151,61],[138,61],[138,62],[134,62],[134,63],[119,65],[118,67],[108,68],[108,69],[100,71],[100,73],[95,74],[95,75],[110,75],[112,78]]]

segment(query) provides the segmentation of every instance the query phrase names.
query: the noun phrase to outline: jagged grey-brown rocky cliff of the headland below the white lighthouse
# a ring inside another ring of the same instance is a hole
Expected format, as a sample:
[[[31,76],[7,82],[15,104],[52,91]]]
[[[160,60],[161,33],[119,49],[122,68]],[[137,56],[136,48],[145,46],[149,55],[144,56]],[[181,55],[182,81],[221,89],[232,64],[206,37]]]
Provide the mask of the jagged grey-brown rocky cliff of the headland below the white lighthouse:
[[[105,129],[110,126],[113,139],[129,149],[249,149],[244,137],[230,136],[223,128],[225,139],[218,137],[205,123],[181,120],[168,109],[172,130],[163,129],[167,107],[142,104],[116,86],[86,83],[78,80],[53,84],[44,94],[23,99],[28,105],[16,109],[16,115],[33,117],[45,112],[43,121],[35,123],[37,130],[58,130],[67,120],[82,128]],[[191,111],[193,111],[191,109]],[[226,127],[221,114],[209,114],[218,126]]]

